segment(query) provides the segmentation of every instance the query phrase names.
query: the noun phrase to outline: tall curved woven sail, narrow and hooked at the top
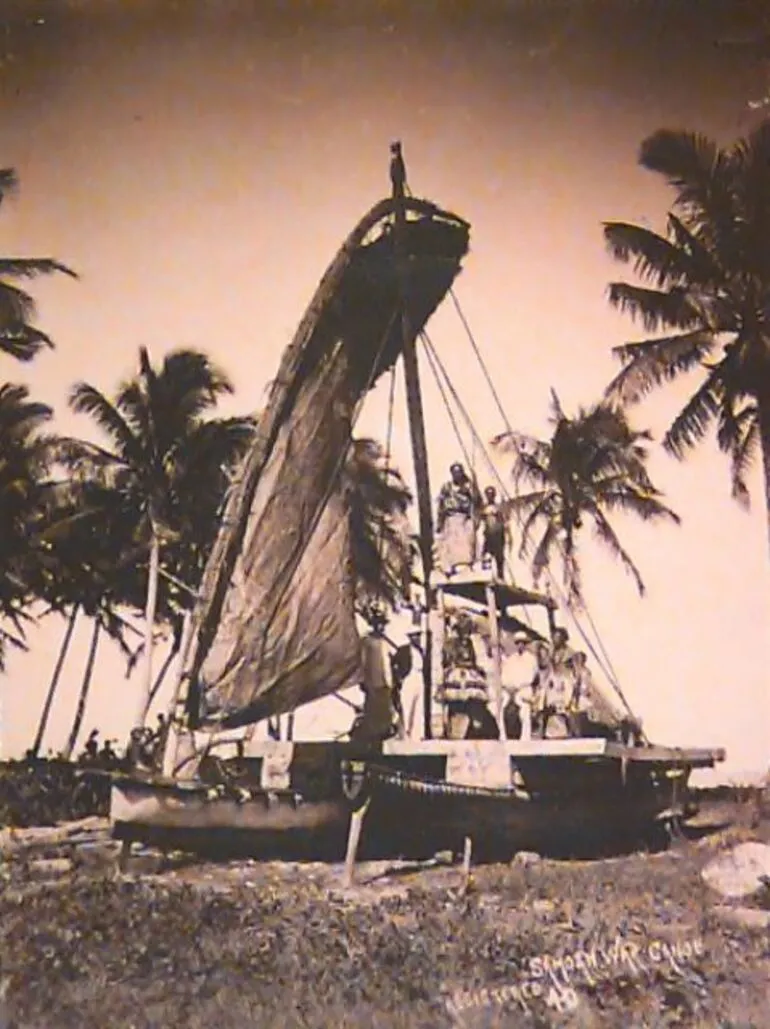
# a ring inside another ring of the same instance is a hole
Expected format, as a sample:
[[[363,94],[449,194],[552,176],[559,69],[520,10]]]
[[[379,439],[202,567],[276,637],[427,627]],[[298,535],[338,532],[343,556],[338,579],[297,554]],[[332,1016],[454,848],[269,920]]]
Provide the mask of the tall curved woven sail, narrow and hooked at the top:
[[[194,613],[194,725],[252,723],[357,681],[359,638],[342,474],[358,405],[416,336],[468,248],[465,221],[402,202],[405,282],[392,200],[341,247],[286,351],[225,505]],[[406,285],[405,285],[406,283]]]

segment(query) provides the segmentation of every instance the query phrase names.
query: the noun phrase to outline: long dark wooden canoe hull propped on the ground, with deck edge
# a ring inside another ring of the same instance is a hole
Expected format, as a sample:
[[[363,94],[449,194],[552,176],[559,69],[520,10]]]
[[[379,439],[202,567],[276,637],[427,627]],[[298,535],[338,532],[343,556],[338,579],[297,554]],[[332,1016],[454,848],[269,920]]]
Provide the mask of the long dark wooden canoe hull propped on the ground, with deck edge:
[[[457,849],[464,837],[490,856],[591,853],[638,844],[684,817],[690,771],[709,764],[707,752],[603,740],[437,741],[369,751],[288,745],[286,769],[281,746],[282,781],[266,784],[275,757],[267,747],[252,759],[260,784],[225,795],[198,781],[114,777],[114,836],[221,856],[339,859],[351,812],[369,800],[365,856],[425,856]]]

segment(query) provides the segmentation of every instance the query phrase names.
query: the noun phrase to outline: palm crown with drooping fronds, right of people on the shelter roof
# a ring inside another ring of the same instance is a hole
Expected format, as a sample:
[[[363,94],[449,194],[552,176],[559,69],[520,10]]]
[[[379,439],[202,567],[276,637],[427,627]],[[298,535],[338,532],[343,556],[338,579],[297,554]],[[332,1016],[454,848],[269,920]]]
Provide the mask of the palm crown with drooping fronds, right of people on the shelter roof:
[[[531,553],[535,584],[550,566],[554,552],[563,563],[563,580],[571,605],[583,603],[577,534],[586,519],[599,541],[625,565],[644,593],[641,575],[621,544],[608,514],[627,511],[645,521],[679,518],[662,502],[646,471],[649,432],[630,427],[623,411],[606,401],[580,409],[567,418],[552,391],[554,431],[550,439],[506,432],[493,445],[515,457],[515,496],[509,514],[522,520],[520,557]],[[520,494],[519,487],[529,488]],[[532,551],[537,526],[542,534]]]

